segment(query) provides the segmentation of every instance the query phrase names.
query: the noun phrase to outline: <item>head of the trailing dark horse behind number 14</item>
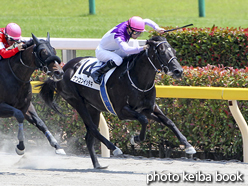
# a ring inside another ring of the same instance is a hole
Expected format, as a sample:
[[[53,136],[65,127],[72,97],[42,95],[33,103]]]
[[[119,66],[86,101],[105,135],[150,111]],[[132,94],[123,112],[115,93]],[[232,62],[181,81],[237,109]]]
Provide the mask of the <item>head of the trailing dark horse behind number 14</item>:
[[[50,75],[54,81],[60,81],[63,78],[64,71],[59,65],[60,58],[56,55],[55,49],[50,44],[50,35],[47,33],[46,40],[39,40],[32,34],[34,41],[33,53],[35,55],[35,63],[37,68],[42,69]]]

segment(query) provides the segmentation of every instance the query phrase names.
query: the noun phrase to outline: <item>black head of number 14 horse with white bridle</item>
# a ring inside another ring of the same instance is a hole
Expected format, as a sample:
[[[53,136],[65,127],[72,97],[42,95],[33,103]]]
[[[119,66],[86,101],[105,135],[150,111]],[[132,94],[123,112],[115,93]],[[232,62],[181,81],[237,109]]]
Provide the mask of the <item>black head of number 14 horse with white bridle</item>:
[[[177,61],[176,51],[164,37],[154,36],[147,44],[149,45],[147,55],[151,56],[157,69],[163,70],[173,78],[182,77],[183,68]]]

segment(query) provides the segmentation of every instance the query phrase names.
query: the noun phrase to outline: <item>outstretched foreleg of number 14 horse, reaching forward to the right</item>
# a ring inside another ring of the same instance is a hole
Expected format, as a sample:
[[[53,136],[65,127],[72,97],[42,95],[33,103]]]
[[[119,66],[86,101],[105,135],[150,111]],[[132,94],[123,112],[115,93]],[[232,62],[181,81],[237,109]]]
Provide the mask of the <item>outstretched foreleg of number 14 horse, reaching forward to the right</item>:
[[[157,104],[154,107],[153,114],[154,115],[149,114],[149,115],[147,115],[147,117],[149,119],[153,119],[159,123],[162,123],[162,124],[166,125],[168,128],[170,128],[174,132],[174,134],[177,136],[180,143],[185,145],[187,154],[195,154],[196,153],[195,149],[187,141],[187,138],[179,131],[179,129],[176,127],[175,123],[164,115],[164,113],[160,110],[160,108]]]

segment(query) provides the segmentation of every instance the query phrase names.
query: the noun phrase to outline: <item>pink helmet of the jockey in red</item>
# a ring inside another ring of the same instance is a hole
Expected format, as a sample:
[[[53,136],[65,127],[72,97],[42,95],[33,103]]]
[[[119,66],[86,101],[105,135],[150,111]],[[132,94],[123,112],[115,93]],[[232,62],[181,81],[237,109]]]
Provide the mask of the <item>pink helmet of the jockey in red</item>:
[[[4,34],[14,40],[21,39],[21,33],[22,33],[22,30],[20,26],[16,23],[9,23],[4,29]]]

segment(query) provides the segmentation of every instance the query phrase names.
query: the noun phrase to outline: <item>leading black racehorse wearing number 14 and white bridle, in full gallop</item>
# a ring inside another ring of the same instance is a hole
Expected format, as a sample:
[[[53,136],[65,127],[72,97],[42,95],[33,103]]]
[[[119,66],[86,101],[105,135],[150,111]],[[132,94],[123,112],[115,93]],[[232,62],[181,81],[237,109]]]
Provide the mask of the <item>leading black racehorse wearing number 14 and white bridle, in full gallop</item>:
[[[148,119],[152,119],[169,127],[181,144],[185,145],[186,153],[194,154],[195,149],[186,137],[155,103],[154,80],[156,73],[164,71],[174,78],[182,76],[183,69],[177,61],[175,50],[161,36],[152,37],[147,40],[146,44],[149,45],[149,49],[125,57],[123,63],[109,77],[106,83],[108,97],[120,120],[138,120],[141,123],[140,134],[131,140],[132,143],[145,139]],[[54,91],[56,91],[57,96],[62,96],[77,110],[87,129],[85,139],[93,166],[94,168],[104,168],[100,166],[95,154],[94,137],[104,143],[108,149],[113,150],[114,155],[122,154],[122,151],[97,130],[100,113],[108,111],[103,104],[99,90],[71,81],[80,64],[84,61],[87,62],[87,59],[90,58],[78,57],[67,62],[63,67],[65,72],[63,79],[59,82],[46,80],[40,85],[40,95],[47,105],[59,112],[59,108],[54,103]],[[86,67],[84,71],[90,75],[92,70],[93,68]]]

